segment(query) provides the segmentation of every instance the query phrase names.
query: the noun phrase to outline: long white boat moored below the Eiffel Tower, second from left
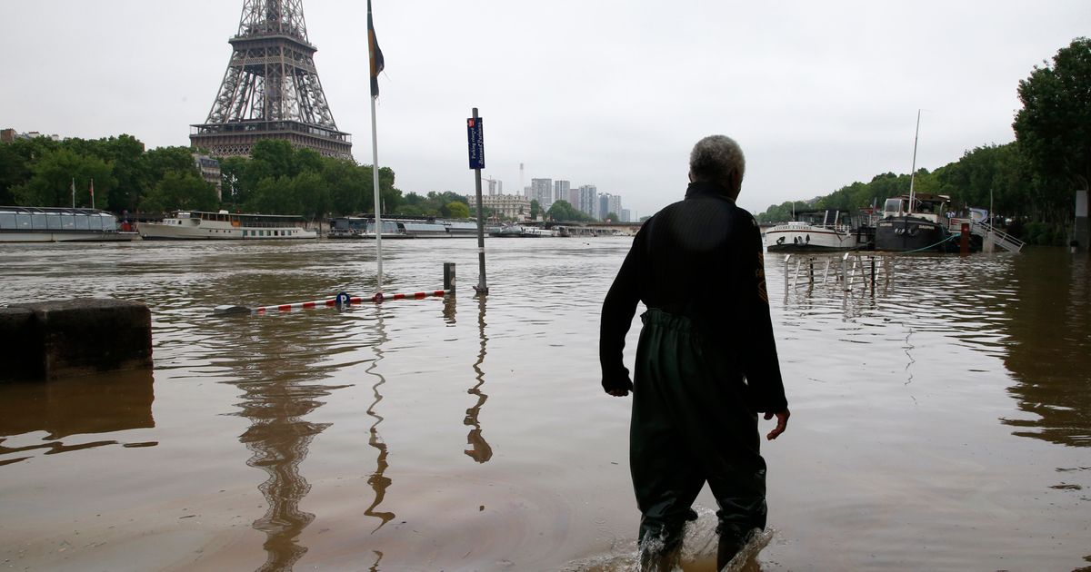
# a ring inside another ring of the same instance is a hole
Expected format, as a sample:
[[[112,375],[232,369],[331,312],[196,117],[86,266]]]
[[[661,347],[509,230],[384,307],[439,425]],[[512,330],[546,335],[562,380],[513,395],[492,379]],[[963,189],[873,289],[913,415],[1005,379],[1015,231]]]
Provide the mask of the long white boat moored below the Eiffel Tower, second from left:
[[[161,240],[293,240],[316,239],[319,233],[303,228],[303,218],[293,215],[243,215],[176,210],[161,222],[142,222],[141,236]]]

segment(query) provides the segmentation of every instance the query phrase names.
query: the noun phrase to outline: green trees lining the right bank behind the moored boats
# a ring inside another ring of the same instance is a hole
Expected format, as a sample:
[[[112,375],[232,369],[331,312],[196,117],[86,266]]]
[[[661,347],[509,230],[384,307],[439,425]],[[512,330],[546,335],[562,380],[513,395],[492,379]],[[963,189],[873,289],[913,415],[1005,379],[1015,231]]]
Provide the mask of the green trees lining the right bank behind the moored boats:
[[[913,177],[916,193],[951,197],[952,206],[993,205],[995,215],[1012,220],[1009,232],[1034,244],[1067,243],[1076,190],[1091,181],[1091,40],[1077,38],[1043,61],[1019,82],[1023,104],[1012,130],[1016,141],[985,145],[934,171]],[[770,205],[759,222],[791,220],[793,211],[882,208],[892,196],[909,193],[910,174],[884,173],[854,182],[813,200]]]

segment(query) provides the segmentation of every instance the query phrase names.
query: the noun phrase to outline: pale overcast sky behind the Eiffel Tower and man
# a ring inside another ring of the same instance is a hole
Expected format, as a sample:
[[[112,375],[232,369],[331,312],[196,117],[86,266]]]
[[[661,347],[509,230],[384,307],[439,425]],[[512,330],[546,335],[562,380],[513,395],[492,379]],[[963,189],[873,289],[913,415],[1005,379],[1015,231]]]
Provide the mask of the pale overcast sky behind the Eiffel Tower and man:
[[[205,120],[242,0],[0,0],[0,126],[188,145]],[[305,0],[337,125],[371,163],[363,0]],[[596,184],[650,215],[681,197],[693,143],[747,157],[742,206],[935,169],[1014,139],[1016,88],[1091,34],[1087,0],[374,0],[386,73],[379,160],[405,192],[473,191],[465,118],[485,126],[485,177]]]

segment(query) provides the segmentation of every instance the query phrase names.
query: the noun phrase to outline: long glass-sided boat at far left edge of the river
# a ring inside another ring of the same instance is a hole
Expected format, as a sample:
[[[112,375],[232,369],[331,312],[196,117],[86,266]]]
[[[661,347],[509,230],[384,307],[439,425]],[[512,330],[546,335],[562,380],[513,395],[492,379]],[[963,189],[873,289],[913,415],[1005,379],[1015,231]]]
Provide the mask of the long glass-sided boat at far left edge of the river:
[[[128,224],[128,223],[127,223]],[[94,208],[0,207],[0,242],[124,242],[112,212]]]

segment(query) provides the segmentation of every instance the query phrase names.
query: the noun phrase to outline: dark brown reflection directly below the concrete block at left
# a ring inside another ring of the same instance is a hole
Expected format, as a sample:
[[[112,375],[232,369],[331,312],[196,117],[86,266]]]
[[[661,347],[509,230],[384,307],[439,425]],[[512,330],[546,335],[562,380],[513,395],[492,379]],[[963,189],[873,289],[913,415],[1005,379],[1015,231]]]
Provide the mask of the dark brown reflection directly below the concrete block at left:
[[[155,427],[152,369],[59,379],[49,382],[0,384],[0,465],[25,461],[32,451],[44,454],[80,451],[116,440],[64,442],[67,437]],[[4,447],[4,437],[45,431],[45,442]],[[123,447],[152,447],[130,442]],[[11,455],[11,457],[9,457]]]

